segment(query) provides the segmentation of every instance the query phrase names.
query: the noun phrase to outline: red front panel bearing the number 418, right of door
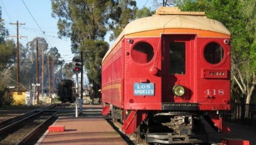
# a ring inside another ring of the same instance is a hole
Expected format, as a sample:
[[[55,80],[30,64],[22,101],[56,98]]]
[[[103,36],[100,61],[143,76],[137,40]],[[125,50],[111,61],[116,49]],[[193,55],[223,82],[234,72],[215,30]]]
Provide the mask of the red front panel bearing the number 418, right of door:
[[[224,40],[225,38],[198,38],[194,91],[198,97],[194,101],[201,103],[201,110],[230,110],[230,45],[225,44]],[[223,59],[220,63],[210,64],[204,57],[203,51],[210,42],[223,47]]]

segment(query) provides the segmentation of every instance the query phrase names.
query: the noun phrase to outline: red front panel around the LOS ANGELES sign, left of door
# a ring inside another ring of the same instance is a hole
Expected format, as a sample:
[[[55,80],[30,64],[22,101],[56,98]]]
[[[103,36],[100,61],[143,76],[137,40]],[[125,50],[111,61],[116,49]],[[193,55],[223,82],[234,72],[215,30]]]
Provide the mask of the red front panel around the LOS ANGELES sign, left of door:
[[[153,66],[161,69],[161,43],[159,42],[161,40],[159,37],[133,37],[132,40],[134,40],[132,44],[125,45],[127,55],[124,57],[124,108],[161,110],[161,77],[150,72]],[[135,62],[132,58],[132,49],[139,42],[147,42],[154,49],[154,57],[148,63]],[[134,95],[134,83],[154,83],[154,95]],[[159,105],[151,105],[154,103]]]

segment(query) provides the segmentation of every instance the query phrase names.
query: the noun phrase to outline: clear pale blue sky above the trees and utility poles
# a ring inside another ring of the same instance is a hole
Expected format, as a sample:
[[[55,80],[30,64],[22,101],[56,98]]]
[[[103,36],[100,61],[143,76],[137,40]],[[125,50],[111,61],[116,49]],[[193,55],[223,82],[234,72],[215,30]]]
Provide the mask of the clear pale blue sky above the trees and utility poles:
[[[139,8],[143,6],[150,7],[152,1],[137,0],[137,6]],[[26,36],[19,39],[23,46],[26,46],[35,37],[45,37],[49,47],[58,48],[65,62],[72,62],[74,54],[70,50],[70,39],[58,38],[58,19],[51,16],[50,0],[0,0],[0,6],[1,18],[4,19],[3,23],[9,30],[10,35],[16,35],[16,25],[10,25],[9,23],[16,23],[17,21],[18,23],[26,23],[26,25],[20,25],[19,27],[19,35]],[[45,32],[45,35],[43,32]],[[14,37],[9,37],[8,39],[14,39],[16,42]],[[106,41],[108,41],[108,37]]]

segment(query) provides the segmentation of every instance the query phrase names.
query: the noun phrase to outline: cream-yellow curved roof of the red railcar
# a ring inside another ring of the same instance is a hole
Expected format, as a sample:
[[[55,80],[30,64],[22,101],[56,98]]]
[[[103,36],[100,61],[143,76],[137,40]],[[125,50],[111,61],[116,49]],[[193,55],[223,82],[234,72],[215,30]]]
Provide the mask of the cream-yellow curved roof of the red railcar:
[[[110,54],[114,46],[117,45],[124,35],[132,33],[162,29],[194,29],[230,35],[230,31],[225,28],[223,23],[206,18],[203,16],[204,12],[184,12],[179,10],[176,11],[176,9],[177,8],[172,8],[170,10],[169,8],[163,9],[163,7],[161,7],[156,11],[156,15],[154,16],[139,18],[128,23],[124,30],[122,30],[122,33],[114,41],[110,50],[107,51],[105,57]],[[164,34],[164,31],[162,34]],[[102,62],[105,57],[102,59]]]

